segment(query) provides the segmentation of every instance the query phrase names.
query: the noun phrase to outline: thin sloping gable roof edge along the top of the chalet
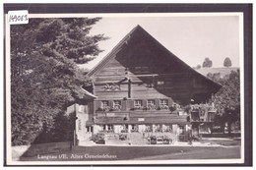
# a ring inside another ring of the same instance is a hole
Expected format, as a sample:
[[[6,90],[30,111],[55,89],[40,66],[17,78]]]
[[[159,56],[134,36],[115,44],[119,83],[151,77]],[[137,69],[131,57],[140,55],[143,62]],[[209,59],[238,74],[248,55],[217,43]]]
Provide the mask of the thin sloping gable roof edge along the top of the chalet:
[[[172,60],[175,60],[177,63],[180,65],[186,67],[191,73],[194,75],[197,75],[209,83],[213,84],[216,86],[216,90],[219,90],[222,85],[219,85],[212,80],[208,79],[207,77],[201,75],[200,73],[196,72],[194,69],[192,69],[190,66],[188,66],[186,63],[184,63],[182,60],[180,60],[177,56],[175,56],[173,53],[171,53],[168,49],[166,49],[160,42],[154,38],[150,33],[148,33],[144,28],[141,26],[137,26],[133,28],[97,65],[94,67],[88,74],[87,76],[93,77],[101,68],[105,66],[105,64],[112,58],[115,57],[115,54],[122,49],[122,46],[135,34],[135,32],[140,32],[140,34],[146,34],[148,37],[150,37],[151,40],[155,41],[158,46],[167,52],[169,54],[169,57],[171,57]]]

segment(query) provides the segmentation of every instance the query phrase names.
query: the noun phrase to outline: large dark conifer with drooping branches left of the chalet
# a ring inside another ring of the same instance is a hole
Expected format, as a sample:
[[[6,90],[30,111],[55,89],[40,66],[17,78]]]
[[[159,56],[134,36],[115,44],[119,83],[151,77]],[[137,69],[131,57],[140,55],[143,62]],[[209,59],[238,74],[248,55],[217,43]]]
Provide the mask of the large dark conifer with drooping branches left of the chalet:
[[[95,59],[102,51],[97,42],[106,39],[89,34],[99,20],[31,19],[11,26],[13,145],[53,130],[55,118],[79,98],[85,80],[77,64]]]

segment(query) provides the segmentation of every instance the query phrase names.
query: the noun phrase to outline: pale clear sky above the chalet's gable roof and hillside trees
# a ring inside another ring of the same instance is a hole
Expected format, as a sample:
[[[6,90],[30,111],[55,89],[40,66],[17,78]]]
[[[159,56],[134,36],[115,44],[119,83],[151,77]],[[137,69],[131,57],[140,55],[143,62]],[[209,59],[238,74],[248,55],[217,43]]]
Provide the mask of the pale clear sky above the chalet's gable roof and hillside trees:
[[[91,34],[104,33],[109,39],[98,43],[104,52],[84,67],[93,68],[137,25],[190,67],[202,65],[206,57],[214,68],[224,67],[225,57],[239,67],[238,16],[102,17]]]

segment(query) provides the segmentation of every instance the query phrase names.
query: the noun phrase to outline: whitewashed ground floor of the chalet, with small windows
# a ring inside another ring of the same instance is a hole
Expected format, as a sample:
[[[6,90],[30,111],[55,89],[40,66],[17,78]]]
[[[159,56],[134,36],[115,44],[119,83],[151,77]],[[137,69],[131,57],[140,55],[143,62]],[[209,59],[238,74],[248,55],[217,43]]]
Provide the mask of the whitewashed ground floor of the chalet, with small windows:
[[[189,140],[190,124],[100,124],[86,126],[84,133],[78,133],[81,143],[98,142],[106,144],[159,144],[187,142]]]

